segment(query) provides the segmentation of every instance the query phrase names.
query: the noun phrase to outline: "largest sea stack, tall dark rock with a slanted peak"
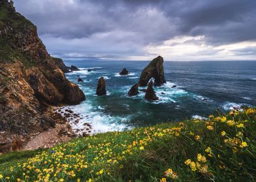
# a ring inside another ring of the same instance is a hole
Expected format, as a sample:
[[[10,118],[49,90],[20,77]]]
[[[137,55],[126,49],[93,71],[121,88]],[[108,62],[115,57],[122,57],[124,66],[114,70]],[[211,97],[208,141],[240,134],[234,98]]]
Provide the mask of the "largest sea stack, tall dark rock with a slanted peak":
[[[138,84],[140,86],[146,86],[150,79],[154,78],[154,85],[161,86],[165,81],[164,68],[163,68],[163,57],[159,56],[153,59],[140,75]]]

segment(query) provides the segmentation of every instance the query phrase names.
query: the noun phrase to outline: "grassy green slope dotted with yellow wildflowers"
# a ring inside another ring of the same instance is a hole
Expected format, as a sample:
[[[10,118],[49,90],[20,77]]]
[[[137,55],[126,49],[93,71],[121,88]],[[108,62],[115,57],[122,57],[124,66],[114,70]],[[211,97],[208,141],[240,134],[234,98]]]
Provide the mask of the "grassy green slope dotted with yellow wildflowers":
[[[247,109],[2,155],[0,181],[256,181],[255,122]]]

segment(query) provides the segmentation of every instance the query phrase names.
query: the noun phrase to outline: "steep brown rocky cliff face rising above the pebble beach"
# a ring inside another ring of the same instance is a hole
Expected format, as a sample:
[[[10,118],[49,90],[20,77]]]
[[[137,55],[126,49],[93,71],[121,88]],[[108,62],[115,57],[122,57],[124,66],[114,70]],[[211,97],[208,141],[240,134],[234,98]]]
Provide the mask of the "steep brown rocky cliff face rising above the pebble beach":
[[[7,0],[0,0],[1,136],[27,138],[53,127],[54,121],[46,114],[49,104],[76,104],[85,99],[60,65],[46,51],[37,27]],[[0,144],[0,150],[4,145]]]

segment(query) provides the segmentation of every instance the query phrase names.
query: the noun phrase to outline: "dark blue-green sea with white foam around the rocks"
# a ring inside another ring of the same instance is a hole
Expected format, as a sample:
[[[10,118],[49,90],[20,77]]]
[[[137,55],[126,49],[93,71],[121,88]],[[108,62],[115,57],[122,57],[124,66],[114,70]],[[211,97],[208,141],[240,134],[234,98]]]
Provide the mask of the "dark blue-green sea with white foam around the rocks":
[[[233,107],[256,105],[256,61],[165,62],[167,83],[155,88],[159,101],[144,99],[144,92],[129,97],[127,92],[138,82],[149,61],[65,61],[78,72],[67,78],[82,88],[86,101],[69,106],[91,123],[94,132],[130,129],[187,118],[202,118]],[[120,76],[122,68],[129,75]],[[88,69],[92,72],[88,72]],[[78,83],[78,75],[84,80]],[[99,77],[106,81],[106,96],[96,96]],[[172,86],[176,85],[176,88]]]

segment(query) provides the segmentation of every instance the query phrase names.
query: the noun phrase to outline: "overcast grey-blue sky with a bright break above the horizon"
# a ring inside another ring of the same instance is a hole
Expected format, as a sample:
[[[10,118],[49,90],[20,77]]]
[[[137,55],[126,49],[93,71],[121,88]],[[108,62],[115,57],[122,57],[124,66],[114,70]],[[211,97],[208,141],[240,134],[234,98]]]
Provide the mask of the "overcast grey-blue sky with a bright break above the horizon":
[[[255,0],[14,0],[65,60],[256,60]]]

